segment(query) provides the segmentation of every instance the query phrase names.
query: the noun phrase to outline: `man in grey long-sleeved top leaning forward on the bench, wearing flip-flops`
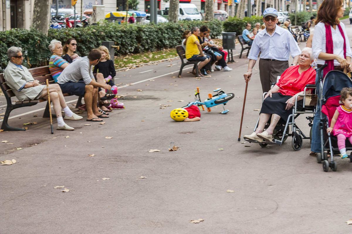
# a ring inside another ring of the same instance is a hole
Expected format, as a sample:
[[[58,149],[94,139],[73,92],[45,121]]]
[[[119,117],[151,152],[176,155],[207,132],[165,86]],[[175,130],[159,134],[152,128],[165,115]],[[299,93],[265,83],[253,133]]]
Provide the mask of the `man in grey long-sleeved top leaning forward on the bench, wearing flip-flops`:
[[[57,78],[57,83],[63,93],[77,96],[84,96],[84,103],[87,109],[87,121],[101,122],[101,118],[108,118],[102,115],[96,105],[98,102],[98,88],[111,89],[110,85],[101,84],[95,81],[92,66],[97,65],[101,59],[101,52],[92,49],[88,56],[85,56],[68,65]],[[80,80],[83,79],[83,82]],[[99,117],[98,117],[99,116]]]

